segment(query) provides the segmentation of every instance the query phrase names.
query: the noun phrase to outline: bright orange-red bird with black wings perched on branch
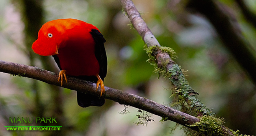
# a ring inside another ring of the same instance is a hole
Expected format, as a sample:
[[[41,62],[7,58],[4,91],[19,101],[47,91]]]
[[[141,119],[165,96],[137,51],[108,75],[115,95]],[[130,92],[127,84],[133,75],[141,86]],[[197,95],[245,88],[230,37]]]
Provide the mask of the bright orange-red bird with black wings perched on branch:
[[[63,78],[67,83],[66,75],[69,75],[96,83],[96,90],[100,85],[102,96],[108,65],[104,42],[103,35],[92,24],[76,19],[57,19],[42,26],[32,49],[39,55],[54,57],[61,70],[61,86]],[[77,91],[77,102],[81,107],[102,106],[105,99]]]

